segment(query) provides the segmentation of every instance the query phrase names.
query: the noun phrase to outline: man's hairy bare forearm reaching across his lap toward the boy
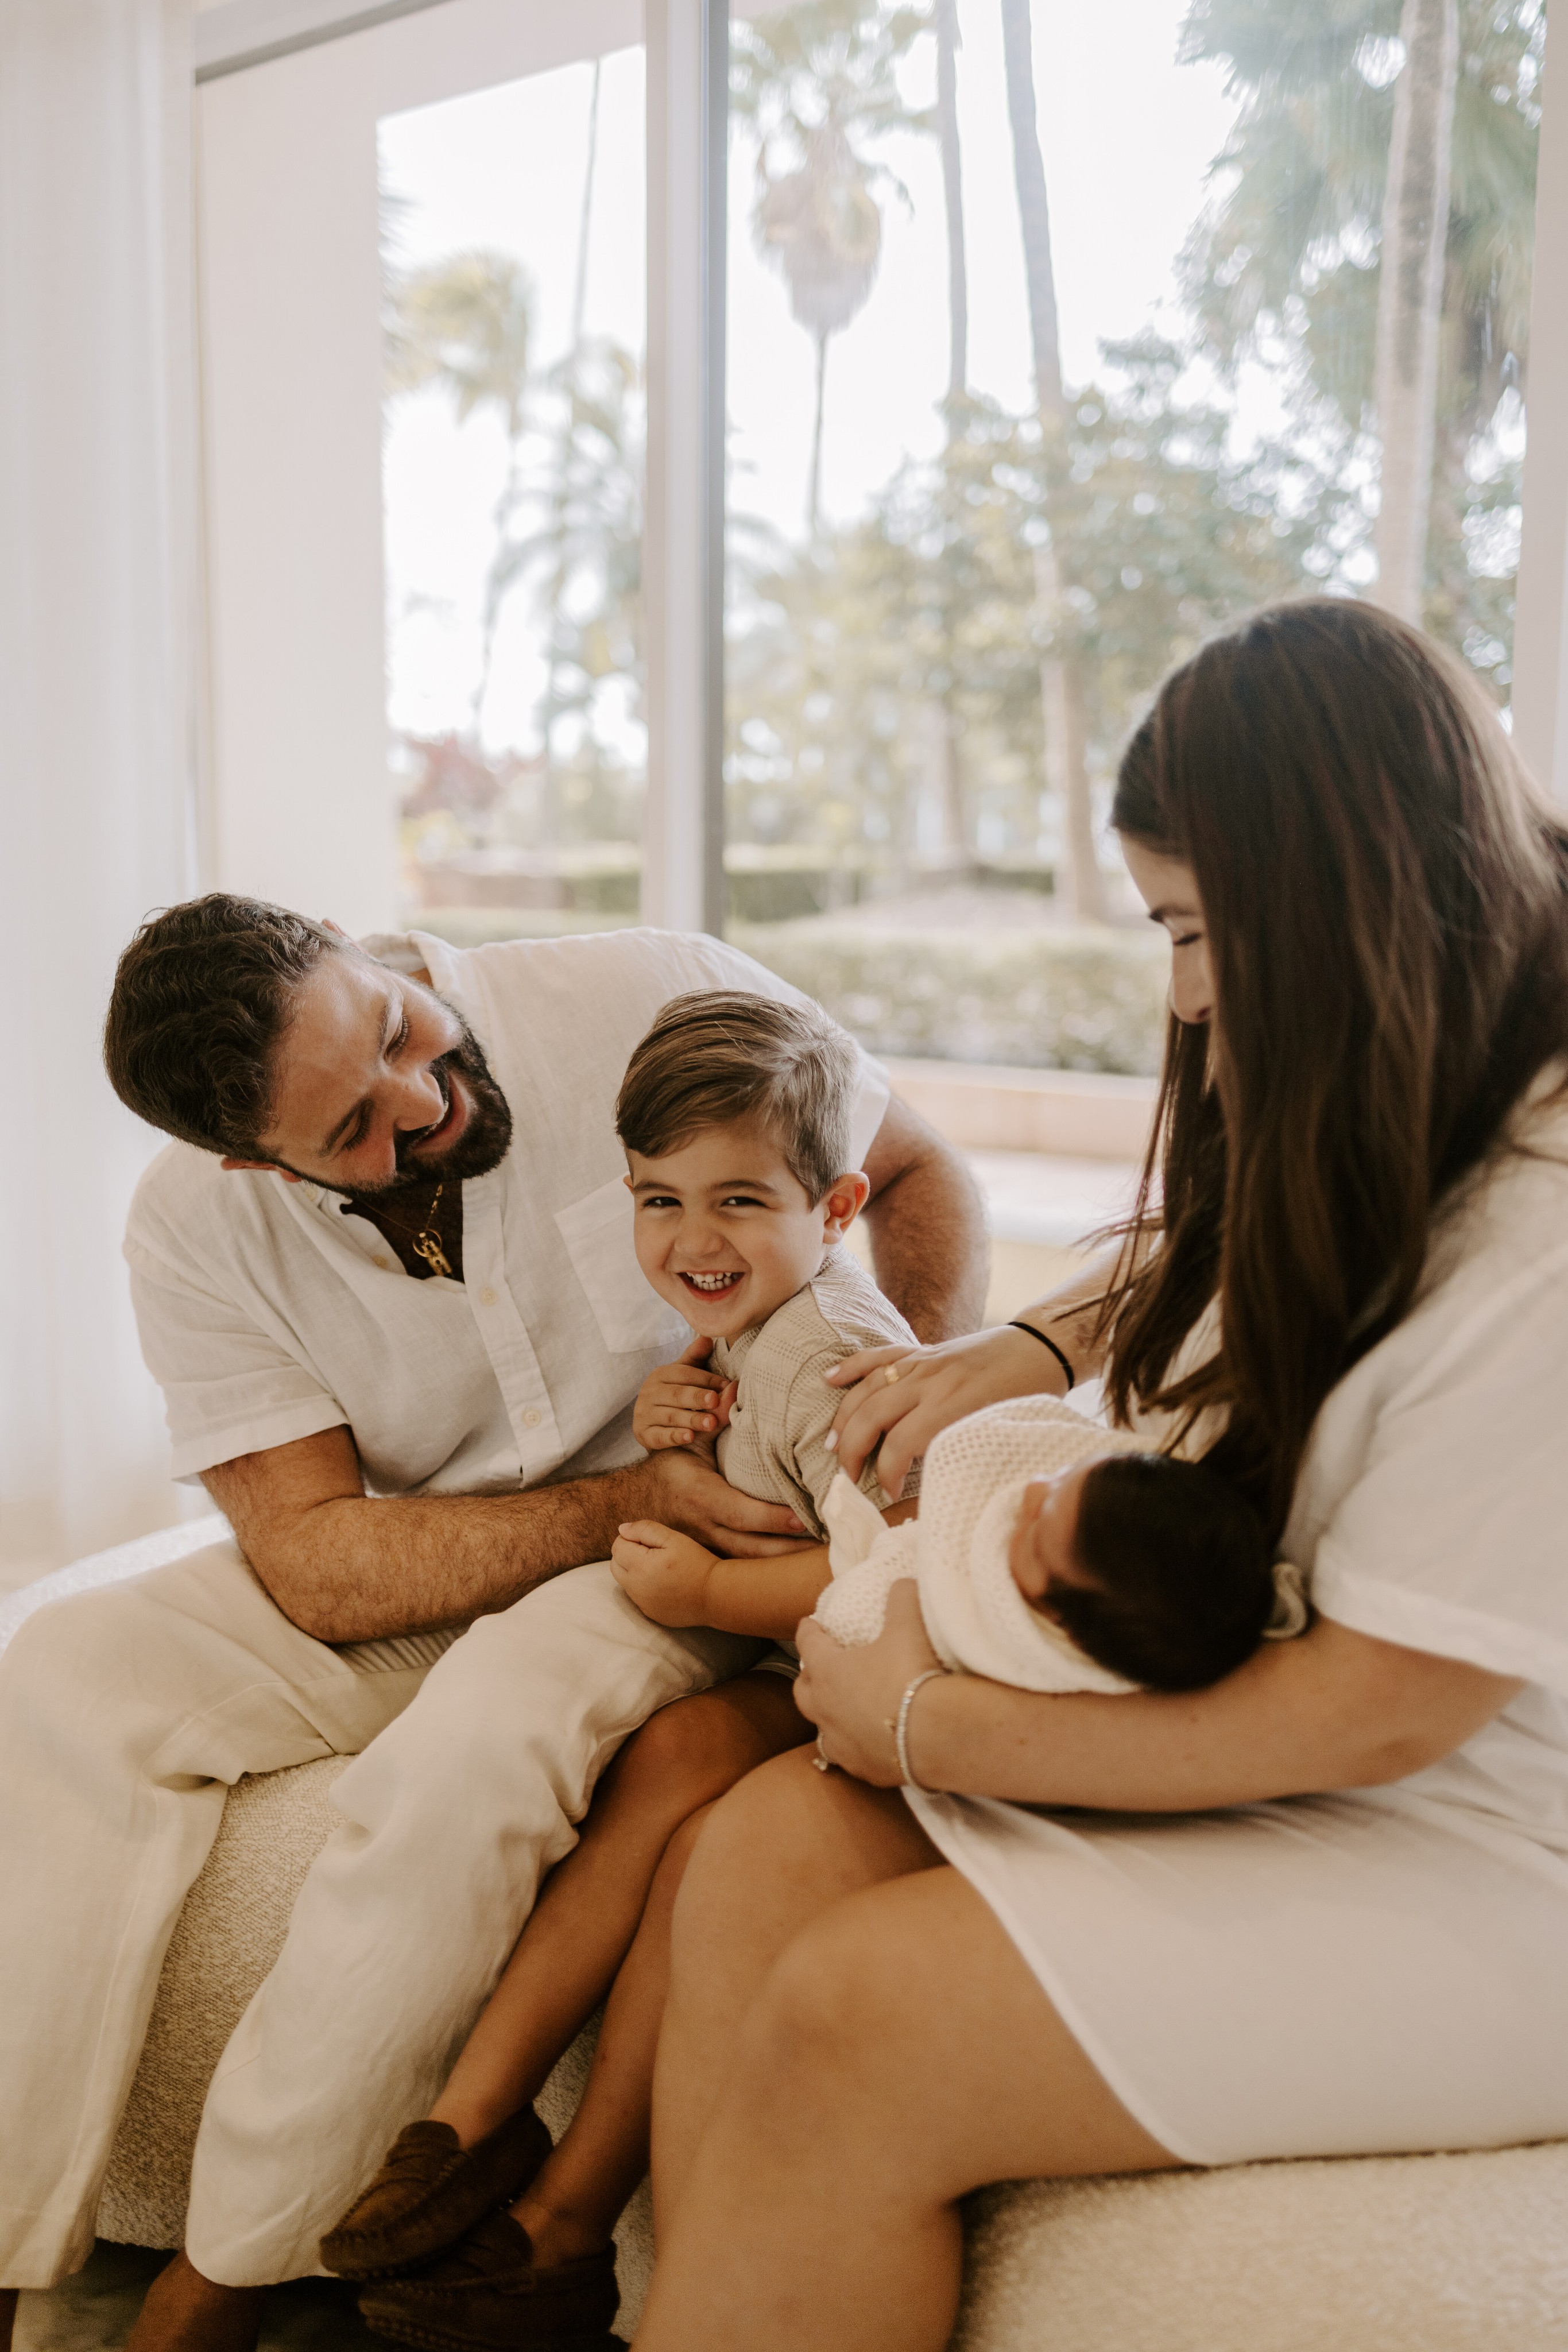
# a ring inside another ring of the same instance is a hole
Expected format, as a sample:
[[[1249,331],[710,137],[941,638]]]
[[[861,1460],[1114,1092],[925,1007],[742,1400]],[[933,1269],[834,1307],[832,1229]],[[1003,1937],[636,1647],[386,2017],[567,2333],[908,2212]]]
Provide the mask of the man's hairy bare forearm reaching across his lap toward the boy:
[[[249,1461],[266,1461],[252,1456]],[[207,1472],[277,1606],[317,1642],[463,1625],[534,1585],[607,1559],[621,1519],[649,1505],[646,1465],[527,1494],[261,1494],[249,1461]]]

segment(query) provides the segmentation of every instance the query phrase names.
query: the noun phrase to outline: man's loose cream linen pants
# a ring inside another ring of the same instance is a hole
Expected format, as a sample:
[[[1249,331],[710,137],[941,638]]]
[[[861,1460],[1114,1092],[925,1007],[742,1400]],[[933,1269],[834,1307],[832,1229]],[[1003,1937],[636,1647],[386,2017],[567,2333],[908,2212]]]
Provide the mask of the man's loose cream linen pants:
[[[315,2270],[322,2232],[428,2112],[625,1733],[757,1653],[649,1623],[609,1566],[440,1646],[327,1649],[233,1543],[19,1630],[0,1658],[0,2286],[52,2286],[92,2251],[228,1783],[357,1757],[195,2150],[190,2260],[252,2286]]]

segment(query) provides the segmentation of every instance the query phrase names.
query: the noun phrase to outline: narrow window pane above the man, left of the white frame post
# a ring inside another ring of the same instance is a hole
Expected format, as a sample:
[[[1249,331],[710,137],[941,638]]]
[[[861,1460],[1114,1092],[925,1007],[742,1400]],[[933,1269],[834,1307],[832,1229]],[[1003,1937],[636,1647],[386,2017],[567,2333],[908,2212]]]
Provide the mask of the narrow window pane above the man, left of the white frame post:
[[[383,118],[400,891],[451,938],[635,922],[644,59]]]

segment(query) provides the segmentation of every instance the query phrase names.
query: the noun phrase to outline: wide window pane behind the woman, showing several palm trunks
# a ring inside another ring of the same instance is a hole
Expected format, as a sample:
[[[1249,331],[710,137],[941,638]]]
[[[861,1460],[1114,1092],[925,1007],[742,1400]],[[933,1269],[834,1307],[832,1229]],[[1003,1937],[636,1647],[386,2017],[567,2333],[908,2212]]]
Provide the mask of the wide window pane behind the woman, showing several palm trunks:
[[[875,1047],[1152,1068],[1110,776],[1251,604],[1507,706],[1544,12],[1406,14],[736,9],[729,910]]]

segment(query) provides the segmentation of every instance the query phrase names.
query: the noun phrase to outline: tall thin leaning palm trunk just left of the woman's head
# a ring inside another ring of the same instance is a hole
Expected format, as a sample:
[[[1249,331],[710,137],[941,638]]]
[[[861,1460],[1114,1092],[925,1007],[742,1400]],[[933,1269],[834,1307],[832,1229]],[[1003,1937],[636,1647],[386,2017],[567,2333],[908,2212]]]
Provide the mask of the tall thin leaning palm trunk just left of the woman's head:
[[[1046,162],[1039,151],[1034,113],[1034,40],[1030,0],[1001,0],[1001,42],[1006,56],[1006,108],[1013,132],[1013,181],[1018,221],[1023,226],[1023,261],[1030,296],[1030,348],[1034,355],[1034,400],[1039,402],[1041,466],[1046,477],[1046,539],[1037,548],[1037,602],[1046,628],[1060,626],[1063,574],[1053,508],[1065,480],[1070,407],[1063,388],[1063,350],[1056,318],[1056,273],[1051,268],[1051,207],[1046,200]],[[1058,795],[1067,833],[1067,906],[1079,922],[1105,920],[1105,882],[1093,837],[1093,802],[1088,793],[1088,741],[1084,670],[1074,649],[1051,649],[1039,663],[1039,701],[1046,739],[1046,786]]]

